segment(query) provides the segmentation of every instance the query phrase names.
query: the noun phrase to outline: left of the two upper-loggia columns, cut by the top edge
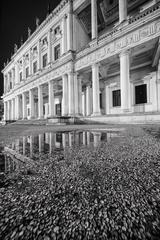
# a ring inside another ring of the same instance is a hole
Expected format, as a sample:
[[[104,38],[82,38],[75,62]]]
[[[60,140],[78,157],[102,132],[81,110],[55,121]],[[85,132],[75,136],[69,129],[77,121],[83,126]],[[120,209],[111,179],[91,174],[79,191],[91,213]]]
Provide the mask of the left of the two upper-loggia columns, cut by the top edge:
[[[97,0],[91,0],[92,40],[97,38]]]

